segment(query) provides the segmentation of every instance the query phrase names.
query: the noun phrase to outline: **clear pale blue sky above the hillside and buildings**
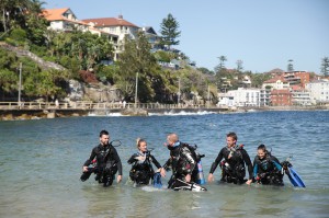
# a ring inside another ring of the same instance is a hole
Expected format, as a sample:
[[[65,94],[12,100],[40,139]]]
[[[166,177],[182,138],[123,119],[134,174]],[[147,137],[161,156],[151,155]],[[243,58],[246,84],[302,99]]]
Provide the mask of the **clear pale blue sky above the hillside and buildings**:
[[[169,13],[179,22],[180,44],[197,67],[209,70],[226,56],[225,67],[242,60],[243,70],[275,68],[320,73],[329,57],[328,0],[44,0],[45,9],[70,8],[79,20],[123,19],[160,35]]]

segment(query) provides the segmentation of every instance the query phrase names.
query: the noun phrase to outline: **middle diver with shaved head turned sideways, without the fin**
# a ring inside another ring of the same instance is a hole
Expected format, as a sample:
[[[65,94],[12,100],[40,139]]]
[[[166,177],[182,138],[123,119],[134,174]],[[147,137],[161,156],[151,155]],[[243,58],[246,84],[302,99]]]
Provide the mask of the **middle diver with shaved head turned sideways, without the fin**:
[[[161,170],[161,175],[166,176],[166,171],[169,169],[172,170],[172,175],[168,182],[168,188],[175,188],[182,183],[196,183],[192,181],[192,174],[197,174],[196,160],[193,157],[192,151],[189,148],[188,144],[183,144],[179,140],[177,134],[169,134],[167,136],[167,148],[170,150],[170,158],[164,163],[163,169]],[[196,171],[195,171],[196,170]]]

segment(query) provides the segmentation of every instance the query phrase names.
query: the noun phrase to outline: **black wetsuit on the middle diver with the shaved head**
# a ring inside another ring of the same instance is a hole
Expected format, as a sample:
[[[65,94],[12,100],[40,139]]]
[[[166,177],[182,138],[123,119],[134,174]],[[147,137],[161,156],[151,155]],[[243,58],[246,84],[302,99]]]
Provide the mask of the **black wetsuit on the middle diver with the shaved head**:
[[[170,150],[170,159],[163,165],[167,171],[172,169],[172,175],[168,182],[169,188],[174,188],[179,183],[175,182],[177,179],[185,181],[185,176],[191,174],[192,182],[197,177],[196,160],[193,157],[191,150],[186,144],[179,142],[179,146],[171,147],[168,146]],[[195,175],[196,174],[196,175]]]

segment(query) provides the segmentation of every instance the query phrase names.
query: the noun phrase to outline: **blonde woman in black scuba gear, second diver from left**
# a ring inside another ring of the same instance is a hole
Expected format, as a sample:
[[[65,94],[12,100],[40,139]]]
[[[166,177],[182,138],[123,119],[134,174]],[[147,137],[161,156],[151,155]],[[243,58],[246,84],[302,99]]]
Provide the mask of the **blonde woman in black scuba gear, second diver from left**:
[[[136,185],[148,185],[155,176],[151,163],[158,168],[158,172],[161,170],[161,164],[150,154],[150,151],[147,150],[146,140],[138,138],[137,149],[138,152],[134,153],[128,160],[128,163],[133,164],[129,176]]]

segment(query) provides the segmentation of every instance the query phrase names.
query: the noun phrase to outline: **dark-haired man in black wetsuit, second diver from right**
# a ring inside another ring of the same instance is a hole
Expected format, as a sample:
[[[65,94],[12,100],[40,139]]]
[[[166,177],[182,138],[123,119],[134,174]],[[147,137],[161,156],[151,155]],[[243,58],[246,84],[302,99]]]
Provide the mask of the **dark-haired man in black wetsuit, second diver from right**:
[[[252,163],[248,152],[243,149],[243,146],[237,146],[238,137],[235,133],[229,133],[226,135],[227,146],[224,147],[215,162],[213,162],[208,182],[214,181],[214,172],[218,164],[222,168],[222,182],[235,183],[235,184],[246,184],[250,185],[252,182]],[[222,159],[224,158],[224,161]],[[249,180],[245,180],[246,169],[248,167]]]

